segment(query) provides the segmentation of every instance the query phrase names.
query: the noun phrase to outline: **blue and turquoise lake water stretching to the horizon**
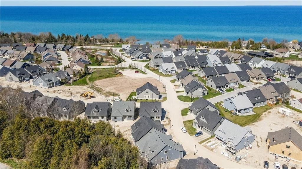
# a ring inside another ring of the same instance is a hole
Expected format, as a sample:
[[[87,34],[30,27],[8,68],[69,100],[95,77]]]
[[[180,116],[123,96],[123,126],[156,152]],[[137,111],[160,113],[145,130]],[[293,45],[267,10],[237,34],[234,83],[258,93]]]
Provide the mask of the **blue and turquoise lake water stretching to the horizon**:
[[[302,40],[302,6],[0,7],[1,31],[134,35],[141,43],[262,38]]]

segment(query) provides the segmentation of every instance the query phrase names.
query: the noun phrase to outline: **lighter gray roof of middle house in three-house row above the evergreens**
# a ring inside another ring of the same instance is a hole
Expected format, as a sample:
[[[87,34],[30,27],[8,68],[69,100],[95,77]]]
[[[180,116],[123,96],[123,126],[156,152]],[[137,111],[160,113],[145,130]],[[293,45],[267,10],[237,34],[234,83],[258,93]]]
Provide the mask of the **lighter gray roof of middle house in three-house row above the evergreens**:
[[[129,110],[129,112],[126,112]],[[135,102],[134,101],[116,101],[112,104],[111,117],[123,117],[124,115],[135,114]]]

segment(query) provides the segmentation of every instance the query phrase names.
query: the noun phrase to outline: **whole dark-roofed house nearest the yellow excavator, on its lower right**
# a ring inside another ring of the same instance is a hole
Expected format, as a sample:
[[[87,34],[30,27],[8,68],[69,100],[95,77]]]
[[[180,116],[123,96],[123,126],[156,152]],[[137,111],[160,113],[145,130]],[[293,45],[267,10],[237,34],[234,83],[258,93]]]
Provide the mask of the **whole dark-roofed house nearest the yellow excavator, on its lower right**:
[[[92,122],[108,121],[111,114],[111,103],[109,102],[92,102],[87,103],[85,116]]]

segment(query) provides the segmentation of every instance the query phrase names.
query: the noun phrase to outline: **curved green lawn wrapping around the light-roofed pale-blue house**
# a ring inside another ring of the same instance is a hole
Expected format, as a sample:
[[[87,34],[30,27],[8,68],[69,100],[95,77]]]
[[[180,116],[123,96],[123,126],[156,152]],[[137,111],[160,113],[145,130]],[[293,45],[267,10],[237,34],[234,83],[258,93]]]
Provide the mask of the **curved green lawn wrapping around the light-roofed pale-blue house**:
[[[222,102],[220,102],[222,103]],[[238,116],[238,115],[232,115],[231,112],[227,109],[225,109],[223,106],[220,106],[218,103],[214,104],[220,111],[220,115],[222,117],[227,118],[228,120],[232,121],[233,123],[236,123],[240,126],[246,126],[251,123],[254,123],[257,121],[260,116],[267,110],[271,109],[270,106],[261,106],[261,107],[254,107],[253,112],[255,112],[255,115],[249,115],[249,116]]]

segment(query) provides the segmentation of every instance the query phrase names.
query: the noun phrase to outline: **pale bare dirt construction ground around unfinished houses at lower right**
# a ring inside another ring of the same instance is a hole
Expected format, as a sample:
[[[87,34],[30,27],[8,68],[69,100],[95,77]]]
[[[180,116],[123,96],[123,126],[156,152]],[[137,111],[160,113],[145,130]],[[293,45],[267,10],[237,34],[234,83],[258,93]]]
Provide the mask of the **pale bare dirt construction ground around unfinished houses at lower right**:
[[[269,168],[272,168],[272,165],[276,160],[274,155],[268,153],[267,145],[265,142],[268,132],[281,130],[285,128],[285,125],[288,125],[289,127],[293,127],[297,132],[302,133],[302,128],[293,123],[293,121],[301,120],[302,114],[291,110],[292,115],[283,116],[278,112],[280,107],[282,106],[276,106],[273,109],[268,110],[267,112],[263,113],[259,121],[248,126],[252,129],[252,133],[255,134],[255,141],[252,144],[252,149],[242,149],[236,154],[243,156],[243,159],[240,161],[240,163],[255,168],[262,168],[263,161],[266,160],[270,163]],[[214,141],[214,139],[207,141],[203,144],[203,146],[218,154],[224,152],[224,148],[222,146],[219,146],[219,142]],[[230,158],[233,158],[233,156],[230,156]],[[288,166],[294,166],[295,164],[297,164],[297,168],[300,168],[302,166],[300,163],[293,160],[288,163],[286,162],[285,158],[281,157],[279,157],[277,161],[281,165],[287,164]]]

